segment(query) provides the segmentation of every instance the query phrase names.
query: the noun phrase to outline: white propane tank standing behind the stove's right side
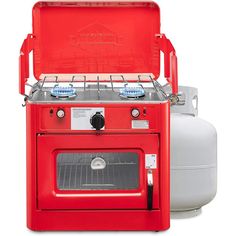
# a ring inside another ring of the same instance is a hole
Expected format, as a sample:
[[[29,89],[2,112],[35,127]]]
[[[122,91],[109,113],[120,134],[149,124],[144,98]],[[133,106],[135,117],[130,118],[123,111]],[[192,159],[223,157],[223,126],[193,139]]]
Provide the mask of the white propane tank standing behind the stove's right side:
[[[171,107],[172,218],[198,215],[217,188],[216,129],[197,117],[197,89],[180,86],[179,91],[185,104]]]

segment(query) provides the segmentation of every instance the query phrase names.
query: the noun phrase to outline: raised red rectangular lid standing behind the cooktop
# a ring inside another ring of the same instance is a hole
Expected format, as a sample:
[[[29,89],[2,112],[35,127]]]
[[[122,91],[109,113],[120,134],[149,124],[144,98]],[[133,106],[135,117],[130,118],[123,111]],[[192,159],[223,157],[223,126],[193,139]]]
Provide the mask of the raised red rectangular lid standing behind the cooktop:
[[[38,2],[34,75],[160,73],[160,10],[154,2]]]

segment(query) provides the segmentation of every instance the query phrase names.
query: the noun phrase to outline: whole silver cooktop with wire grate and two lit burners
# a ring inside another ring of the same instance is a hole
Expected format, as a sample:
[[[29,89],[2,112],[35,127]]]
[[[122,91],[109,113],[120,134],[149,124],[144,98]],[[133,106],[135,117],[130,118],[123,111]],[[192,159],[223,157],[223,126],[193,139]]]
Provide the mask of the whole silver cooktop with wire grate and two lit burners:
[[[29,100],[34,103],[159,103],[168,100],[152,76],[98,75],[96,80],[93,76],[46,75],[34,85]]]

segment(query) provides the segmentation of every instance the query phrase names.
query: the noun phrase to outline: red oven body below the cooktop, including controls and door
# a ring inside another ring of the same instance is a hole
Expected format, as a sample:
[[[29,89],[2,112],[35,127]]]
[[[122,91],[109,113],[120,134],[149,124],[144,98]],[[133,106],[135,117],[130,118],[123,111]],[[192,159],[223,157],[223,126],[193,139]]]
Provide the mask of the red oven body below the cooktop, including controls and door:
[[[103,130],[73,128],[73,109],[98,107],[105,113]],[[138,118],[130,114],[134,107],[140,111]],[[65,111],[62,119],[56,115],[58,109]],[[169,228],[169,102],[28,102],[26,112],[30,229]],[[148,128],[133,127],[133,120],[148,122]],[[156,161],[151,167],[150,155]],[[99,158],[100,167],[105,167],[93,169],[92,162]]]

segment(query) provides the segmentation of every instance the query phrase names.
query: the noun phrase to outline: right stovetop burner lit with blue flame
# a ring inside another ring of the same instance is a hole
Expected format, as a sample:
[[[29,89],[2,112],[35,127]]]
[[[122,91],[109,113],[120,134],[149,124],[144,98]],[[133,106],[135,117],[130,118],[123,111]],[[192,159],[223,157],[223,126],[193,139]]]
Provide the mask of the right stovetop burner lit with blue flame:
[[[145,91],[141,84],[136,86],[125,84],[124,88],[120,89],[120,96],[123,98],[138,99],[145,96]]]

